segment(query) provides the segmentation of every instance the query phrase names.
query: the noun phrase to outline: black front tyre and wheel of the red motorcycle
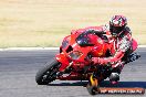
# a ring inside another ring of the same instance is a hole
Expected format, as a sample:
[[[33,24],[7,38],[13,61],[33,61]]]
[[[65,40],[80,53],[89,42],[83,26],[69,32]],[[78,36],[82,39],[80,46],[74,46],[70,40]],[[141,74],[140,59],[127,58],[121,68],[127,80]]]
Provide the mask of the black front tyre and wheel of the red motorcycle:
[[[38,85],[48,85],[55,80],[60,68],[60,63],[54,60],[52,63],[46,63],[35,75]]]

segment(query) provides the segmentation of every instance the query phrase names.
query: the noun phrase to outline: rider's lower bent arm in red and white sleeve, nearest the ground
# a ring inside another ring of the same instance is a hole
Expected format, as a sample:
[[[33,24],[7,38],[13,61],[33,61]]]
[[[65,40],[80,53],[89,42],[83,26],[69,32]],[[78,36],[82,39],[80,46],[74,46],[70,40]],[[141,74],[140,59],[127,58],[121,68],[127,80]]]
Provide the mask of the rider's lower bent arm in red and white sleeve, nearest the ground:
[[[92,61],[94,62],[94,64],[107,64],[107,63],[116,63],[117,61],[119,61],[125,52],[131,47],[131,41],[124,36],[122,40],[122,43],[119,45],[119,48],[116,51],[114,56],[111,57],[93,57]]]

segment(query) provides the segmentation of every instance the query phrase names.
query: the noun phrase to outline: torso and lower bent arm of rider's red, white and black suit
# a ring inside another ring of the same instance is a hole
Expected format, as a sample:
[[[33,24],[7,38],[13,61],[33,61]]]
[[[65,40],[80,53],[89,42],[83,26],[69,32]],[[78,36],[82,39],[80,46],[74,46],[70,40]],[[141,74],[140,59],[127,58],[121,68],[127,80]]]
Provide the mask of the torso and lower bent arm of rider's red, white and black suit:
[[[107,42],[109,44],[109,53],[111,56],[108,57],[93,57],[92,61],[94,64],[112,64],[112,67],[118,67],[118,72],[122,71],[124,66],[124,61],[127,58],[127,56],[134,51],[133,48],[133,39],[132,39],[132,32],[126,26],[119,34],[118,36],[112,36],[108,26],[101,26],[102,31],[100,32],[105,32],[105,35],[107,36]],[[135,48],[136,50],[136,48]]]

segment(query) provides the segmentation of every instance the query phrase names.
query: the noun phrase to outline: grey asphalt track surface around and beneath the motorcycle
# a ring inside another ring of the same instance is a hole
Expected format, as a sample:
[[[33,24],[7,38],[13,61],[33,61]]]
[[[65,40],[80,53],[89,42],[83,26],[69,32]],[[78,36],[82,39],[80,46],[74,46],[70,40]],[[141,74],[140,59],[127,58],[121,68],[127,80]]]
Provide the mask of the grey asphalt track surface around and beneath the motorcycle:
[[[39,86],[35,73],[59,51],[0,51],[0,97],[91,97],[86,82],[55,80]],[[102,87],[146,88],[146,48],[138,48],[142,57],[125,65],[119,84],[113,86],[107,80]],[[145,97],[145,95],[96,95],[95,97]]]

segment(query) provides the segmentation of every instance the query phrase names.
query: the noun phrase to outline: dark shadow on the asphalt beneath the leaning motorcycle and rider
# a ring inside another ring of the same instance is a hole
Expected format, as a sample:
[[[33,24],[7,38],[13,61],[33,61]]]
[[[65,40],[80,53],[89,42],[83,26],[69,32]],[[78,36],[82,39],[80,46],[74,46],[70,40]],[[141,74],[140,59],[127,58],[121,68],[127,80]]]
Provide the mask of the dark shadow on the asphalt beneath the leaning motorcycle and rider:
[[[75,83],[60,83],[60,84],[49,84],[48,86],[86,86],[87,82],[75,82]],[[112,85],[109,82],[105,80],[101,83],[101,87],[142,87],[146,88],[146,82],[119,82],[116,85]]]

